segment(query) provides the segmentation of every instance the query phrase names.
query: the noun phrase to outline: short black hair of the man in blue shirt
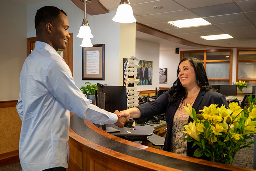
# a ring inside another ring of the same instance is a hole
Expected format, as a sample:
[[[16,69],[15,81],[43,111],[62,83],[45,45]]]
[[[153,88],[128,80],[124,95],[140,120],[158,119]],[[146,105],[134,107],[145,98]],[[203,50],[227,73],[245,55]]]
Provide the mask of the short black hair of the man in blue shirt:
[[[45,24],[51,23],[55,19],[59,19],[60,12],[67,16],[66,12],[55,6],[44,6],[37,10],[35,17],[36,32],[40,31],[40,28]]]

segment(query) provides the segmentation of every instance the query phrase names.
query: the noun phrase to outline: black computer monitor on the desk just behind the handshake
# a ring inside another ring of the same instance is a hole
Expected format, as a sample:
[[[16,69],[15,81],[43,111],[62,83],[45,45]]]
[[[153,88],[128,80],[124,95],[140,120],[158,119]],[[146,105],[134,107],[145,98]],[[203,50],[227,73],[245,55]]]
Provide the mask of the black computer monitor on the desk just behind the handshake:
[[[114,113],[115,110],[127,109],[126,87],[125,86],[98,86],[98,106],[101,106],[100,93],[105,93],[105,110]]]

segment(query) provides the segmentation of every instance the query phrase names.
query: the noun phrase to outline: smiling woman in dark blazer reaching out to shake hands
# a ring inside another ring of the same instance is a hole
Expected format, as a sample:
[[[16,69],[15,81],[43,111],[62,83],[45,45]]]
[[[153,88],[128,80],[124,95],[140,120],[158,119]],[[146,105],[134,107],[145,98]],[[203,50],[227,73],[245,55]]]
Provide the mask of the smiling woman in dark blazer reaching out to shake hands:
[[[192,144],[186,140],[180,141],[180,138],[186,138],[184,128],[180,129],[181,126],[193,120],[182,107],[187,106],[187,103],[193,106],[196,113],[200,113],[199,110],[212,103],[228,107],[225,96],[215,92],[209,85],[204,66],[196,58],[185,58],[180,61],[177,80],[155,101],[121,111],[119,115],[150,118],[165,113],[167,135],[164,150],[193,157],[195,147],[192,148]],[[207,159],[205,157],[203,159]]]

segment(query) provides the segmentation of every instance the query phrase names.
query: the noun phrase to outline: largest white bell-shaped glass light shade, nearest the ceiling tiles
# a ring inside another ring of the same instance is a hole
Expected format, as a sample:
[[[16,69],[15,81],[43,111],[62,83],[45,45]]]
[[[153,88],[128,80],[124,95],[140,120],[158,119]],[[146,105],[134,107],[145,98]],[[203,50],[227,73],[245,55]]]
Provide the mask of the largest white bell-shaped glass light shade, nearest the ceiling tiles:
[[[118,23],[133,23],[136,19],[133,16],[132,7],[128,4],[121,4],[116,10],[116,15],[112,19]]]

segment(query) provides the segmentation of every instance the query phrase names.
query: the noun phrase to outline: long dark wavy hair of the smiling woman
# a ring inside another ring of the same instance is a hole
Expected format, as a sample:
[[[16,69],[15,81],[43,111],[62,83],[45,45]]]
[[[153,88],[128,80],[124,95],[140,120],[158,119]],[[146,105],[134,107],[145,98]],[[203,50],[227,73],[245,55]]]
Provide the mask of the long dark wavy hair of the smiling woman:
[[[181,62],[186,61],[186,60],[189,61],[189,63],[191,64],[191,66],[193,66],[193,68],[195,70],[196,85],[198,87],[200,87],[201,89],[205,89],[208,91],[215,91],[215,89],[213,89],[212,86],[210,86],[210,84],[208,82],[207,74],[204,70],[204,66],[203,66],[202,62],[200,62],[200,60],[198,60],[197,58],[189,57],[189,58],[182,59],[179,63],[179,66],[180,66]],[[177,77],[178,77],[178,75],[179,75],[179,67],[177,70]],[[180,104],[182,104],[188,96],[188,91],[182,86],[179,77],[173,83],[173,86],[169,89],[169,93],[171,95],[170,104],[172,106],[175,106],[175,104],[177,103],[177,101],[180,98],[181,98]]]

